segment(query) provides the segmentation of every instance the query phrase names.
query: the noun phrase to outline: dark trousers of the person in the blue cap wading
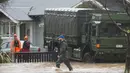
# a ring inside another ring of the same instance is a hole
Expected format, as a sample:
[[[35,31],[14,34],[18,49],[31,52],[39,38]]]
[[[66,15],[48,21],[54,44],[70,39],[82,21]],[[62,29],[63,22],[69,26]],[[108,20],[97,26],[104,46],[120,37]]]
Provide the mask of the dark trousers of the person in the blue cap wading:
[[[63,63],[63,62],[69,68],[69,70],[73,69],[72,66],[71,66],[71,64],[70,64],[69,59],[66,58],[66,57],[62,57],[62,56],[60,56],[58,58],[58,60],[56,61],[56,67],[60,68],[60,64]]]

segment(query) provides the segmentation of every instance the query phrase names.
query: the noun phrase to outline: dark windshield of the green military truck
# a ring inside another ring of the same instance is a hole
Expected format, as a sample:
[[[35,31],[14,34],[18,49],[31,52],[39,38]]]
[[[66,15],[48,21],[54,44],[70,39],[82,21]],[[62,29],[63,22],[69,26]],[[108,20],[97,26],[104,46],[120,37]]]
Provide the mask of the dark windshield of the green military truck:
[[[128,24],[120,23],[119,26],[123,28],[123,30],[130,30],[130,27]],[[99,24],[99,36],[126,36],[125,33],[120,31],[113,23],[101,23]]]

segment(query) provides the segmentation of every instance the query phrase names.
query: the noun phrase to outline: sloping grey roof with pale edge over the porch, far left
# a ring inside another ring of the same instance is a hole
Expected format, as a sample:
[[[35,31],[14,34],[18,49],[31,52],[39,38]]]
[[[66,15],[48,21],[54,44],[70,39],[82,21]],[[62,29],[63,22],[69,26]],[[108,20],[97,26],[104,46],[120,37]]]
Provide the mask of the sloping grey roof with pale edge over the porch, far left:
[[[14,23],[18,23],[19,21],[31,21],[32,19],[25,13],[23,10],[18,8],[8,8],[0,9],[2,13],[4,13],[9,19],[11,19]]]

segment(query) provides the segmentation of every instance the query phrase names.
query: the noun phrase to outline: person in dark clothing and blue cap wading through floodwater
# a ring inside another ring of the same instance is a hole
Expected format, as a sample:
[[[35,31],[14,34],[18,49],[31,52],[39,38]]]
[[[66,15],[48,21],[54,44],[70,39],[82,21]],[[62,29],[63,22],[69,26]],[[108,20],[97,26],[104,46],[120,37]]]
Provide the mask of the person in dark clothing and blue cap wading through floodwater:
[[[67,42],[64,39],[63,35],[60,35],[58,37],[58,60],[56,61],[56,67],[60,68],[60,64],[64,62],[64,64],[68,67],[69,71],[72,71],[73,68],[70,64],[70,61],[68,59],[68,51],[67,51]]]

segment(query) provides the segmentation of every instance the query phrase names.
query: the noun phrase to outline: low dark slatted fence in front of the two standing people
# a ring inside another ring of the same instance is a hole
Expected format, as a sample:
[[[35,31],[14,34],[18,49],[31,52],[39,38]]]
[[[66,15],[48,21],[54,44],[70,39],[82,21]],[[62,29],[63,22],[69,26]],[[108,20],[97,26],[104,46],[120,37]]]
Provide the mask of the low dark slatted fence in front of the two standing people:
[[[57,60],[57,52],[37,52],[37,53],[15,53],[14,62],[54,62]]]

